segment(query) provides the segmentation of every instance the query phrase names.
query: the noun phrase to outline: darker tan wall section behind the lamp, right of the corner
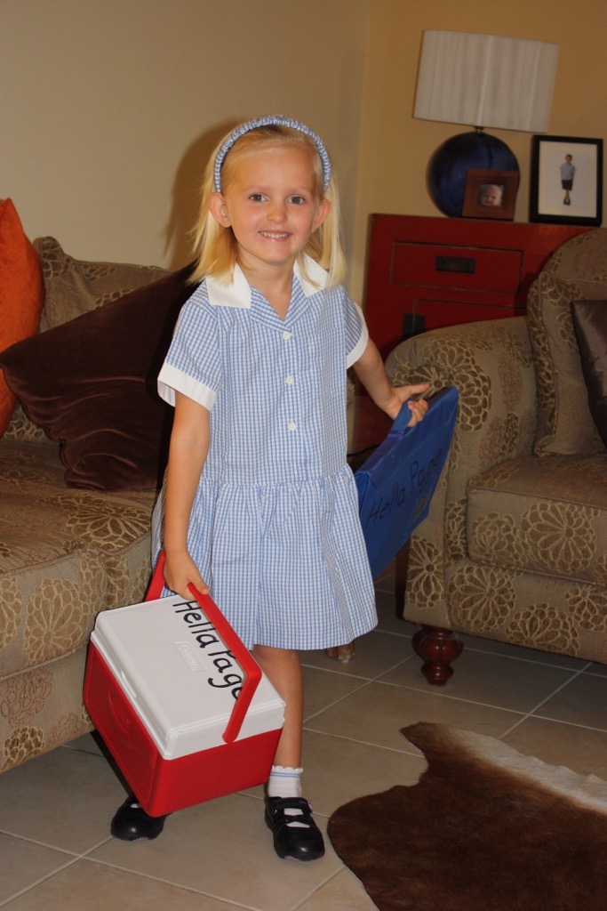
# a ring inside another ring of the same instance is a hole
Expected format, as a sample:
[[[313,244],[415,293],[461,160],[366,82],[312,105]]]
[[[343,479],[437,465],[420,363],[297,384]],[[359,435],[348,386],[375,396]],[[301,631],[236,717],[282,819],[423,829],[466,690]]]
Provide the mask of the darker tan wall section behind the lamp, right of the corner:
[[[428,161],[440,143],[465,131],[455,124],[411,116],[421,33],[426,28],[558,44],[551,135],[607,135],[605,0],[371,0],[350,280],[357,294],[363,281],[369,212],[440,216],[426,189]],[[519,161],[515,220],[527,221],[531,136],[504,130],[491,133],[506,142]]]

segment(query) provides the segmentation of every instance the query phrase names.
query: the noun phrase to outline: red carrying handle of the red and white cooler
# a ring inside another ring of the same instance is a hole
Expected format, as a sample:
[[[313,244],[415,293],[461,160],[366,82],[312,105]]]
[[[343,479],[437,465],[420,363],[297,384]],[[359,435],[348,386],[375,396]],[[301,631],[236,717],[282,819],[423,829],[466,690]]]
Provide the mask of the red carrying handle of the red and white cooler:
[[[161,550],[158,555],[156,568],[147,588],[146,601],[155,601],[162,595],[162,589],[165,587],[165,559],[165,552],[164,550]],[[261,668],[257,661],[253,659],[248,648],[238,639],[237,634],[232,630],[228,620],[218,609],[215,601],[211,599],[209,595],[201,595],[193,585],[190,585],[189,589],[200,607],[207,614],[207,618],[218,631],[222,640],[224,640],[228,646],[228,649],[233,652],[243,673],[244,682],[242,684],[242,689],[238,694],[238,699],[234,703],[234,708],[229,716],[228,727],[222,734],[224,741],[226,743],[231,743],[236,740],[240,733],[240,728],[242,727],[242,722],[245,720],[248,706],[251,704],[251,700],[253,699],[259,681],[261,680]]]

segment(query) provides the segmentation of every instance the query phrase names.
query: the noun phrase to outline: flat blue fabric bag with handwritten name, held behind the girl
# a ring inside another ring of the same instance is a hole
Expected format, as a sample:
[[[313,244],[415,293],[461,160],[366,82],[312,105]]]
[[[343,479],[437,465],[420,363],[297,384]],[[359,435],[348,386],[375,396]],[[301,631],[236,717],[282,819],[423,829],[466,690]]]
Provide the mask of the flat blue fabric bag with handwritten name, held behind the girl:
[[[396,557],[428,516],[430,499],[449,455],[459,394],[443,389],[414,427],[403,405],[386,439],[354,474],[359,515],[373,578]]]

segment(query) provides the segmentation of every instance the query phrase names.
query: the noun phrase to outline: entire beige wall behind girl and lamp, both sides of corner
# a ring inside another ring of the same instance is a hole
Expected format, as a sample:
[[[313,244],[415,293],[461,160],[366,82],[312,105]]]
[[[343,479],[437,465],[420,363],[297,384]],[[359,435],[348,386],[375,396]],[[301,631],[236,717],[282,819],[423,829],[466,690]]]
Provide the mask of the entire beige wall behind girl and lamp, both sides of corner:
[[[369,212],[440,215],[426,165],[461,129],[411,117],[423,29],[556,42],[551,133],[605,137],[606,26],[605,0],[0,0],[0,198],[76,257],[177,267],[218,136],[288,113],[336,163],[360,296]],[[531,138],[494,132],[527,220]]]

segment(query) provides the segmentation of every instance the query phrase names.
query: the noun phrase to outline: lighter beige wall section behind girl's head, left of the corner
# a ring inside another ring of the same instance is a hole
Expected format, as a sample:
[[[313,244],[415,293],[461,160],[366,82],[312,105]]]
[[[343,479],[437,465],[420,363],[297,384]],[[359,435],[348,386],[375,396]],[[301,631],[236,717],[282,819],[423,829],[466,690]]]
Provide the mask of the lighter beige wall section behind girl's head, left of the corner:
[[[76,257],[178,266],[208,154],[268,112],[318,129],[349,193],[368,0],[0,0],[0,198]]]

